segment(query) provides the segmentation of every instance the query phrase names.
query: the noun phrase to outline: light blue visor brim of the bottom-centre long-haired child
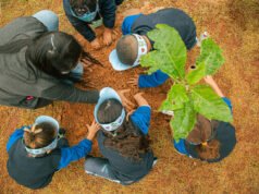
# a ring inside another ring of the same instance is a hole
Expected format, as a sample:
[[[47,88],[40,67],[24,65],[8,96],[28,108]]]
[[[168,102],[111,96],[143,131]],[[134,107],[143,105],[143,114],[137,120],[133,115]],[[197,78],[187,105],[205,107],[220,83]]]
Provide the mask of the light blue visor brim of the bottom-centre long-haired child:
[[[95,116],[95,119],[96,119],[97,122],[98,122],[98,120],[97,120],[97,111],[98,111],[100,105],[103,101],[106,101],[107,99],[111,99],[111,98],[118,99],[119,101],[122,102],[120,96],[118,95],[118,93],[113,88],[104,87],[104,88],[102,88],[100,90],[99,99],[98,99],[98,102],[97,102],[97,105],[95,107],[95,112],[94,112],[94,116]]]

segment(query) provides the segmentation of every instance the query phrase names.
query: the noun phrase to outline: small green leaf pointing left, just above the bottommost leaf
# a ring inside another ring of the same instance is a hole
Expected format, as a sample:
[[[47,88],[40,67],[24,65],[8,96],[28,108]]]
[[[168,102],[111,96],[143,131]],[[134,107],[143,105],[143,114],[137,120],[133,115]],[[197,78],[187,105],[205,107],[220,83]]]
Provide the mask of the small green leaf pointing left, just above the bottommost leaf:
[[[177,110],[184,107],[184,104],[189,100],[184,85],[174,84],[168,93],[166,99],[159,108],[162,110]]]

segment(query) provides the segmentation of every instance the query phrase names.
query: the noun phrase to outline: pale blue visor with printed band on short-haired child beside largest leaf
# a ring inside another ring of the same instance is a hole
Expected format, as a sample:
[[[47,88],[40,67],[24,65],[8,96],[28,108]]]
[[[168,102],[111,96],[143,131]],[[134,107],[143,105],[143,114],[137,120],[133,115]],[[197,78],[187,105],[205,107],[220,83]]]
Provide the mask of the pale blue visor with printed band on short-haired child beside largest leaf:
[[[133,65],[124,64],[119,60],[116,49],[114,49],[114,50],[111,51],[111,53],[109,56],[109,61],[110,61],[110,63],[111,63],[111,65],[114,70],[123,71],[123,70],[128,70],[128,69],[132,69],[134,66],[137,66],[137,65],[139,65],[140,57],[147,53],[148,47],[147,47],[146,40],[140,35],[133,34],[133,36],[136,37],[137,43],[138,43],[137,59],[135,60]]]

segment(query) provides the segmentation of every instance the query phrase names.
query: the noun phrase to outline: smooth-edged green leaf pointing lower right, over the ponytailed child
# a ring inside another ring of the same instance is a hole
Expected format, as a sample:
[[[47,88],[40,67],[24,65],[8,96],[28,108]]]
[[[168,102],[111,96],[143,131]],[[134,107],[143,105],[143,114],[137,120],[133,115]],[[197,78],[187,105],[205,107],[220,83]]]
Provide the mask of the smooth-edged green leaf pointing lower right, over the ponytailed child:
[[[210,86],[197,85],[192,89],[194,109],[208,119],[231,122],[232,113],[227,105]]]

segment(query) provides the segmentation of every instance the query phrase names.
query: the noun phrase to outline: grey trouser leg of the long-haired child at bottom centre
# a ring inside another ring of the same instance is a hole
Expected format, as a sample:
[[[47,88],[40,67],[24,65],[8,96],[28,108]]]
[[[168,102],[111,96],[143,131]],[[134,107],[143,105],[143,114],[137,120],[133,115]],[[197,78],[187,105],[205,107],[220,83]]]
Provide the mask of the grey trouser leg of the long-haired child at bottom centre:
[[[85,172],[88,174],[108,179],[116,183],[121,183],[121,181],[114,178],[114,175],[110,172],[109,161],[106,158],[86,157]]]

